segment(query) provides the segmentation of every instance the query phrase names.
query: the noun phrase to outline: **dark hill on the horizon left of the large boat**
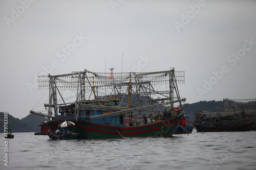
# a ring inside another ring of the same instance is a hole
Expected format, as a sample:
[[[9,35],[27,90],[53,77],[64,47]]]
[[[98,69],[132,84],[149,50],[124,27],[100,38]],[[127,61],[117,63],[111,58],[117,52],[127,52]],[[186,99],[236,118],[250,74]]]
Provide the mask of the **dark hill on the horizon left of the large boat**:
[[[12,132],[40,132],[38,123],[45,122],[46,118],[35,114],[19,119],[8,113],[8,125],[10,125]],[[0,133],[4,132],[4,113],[0,112]]]

